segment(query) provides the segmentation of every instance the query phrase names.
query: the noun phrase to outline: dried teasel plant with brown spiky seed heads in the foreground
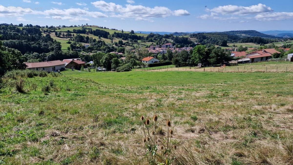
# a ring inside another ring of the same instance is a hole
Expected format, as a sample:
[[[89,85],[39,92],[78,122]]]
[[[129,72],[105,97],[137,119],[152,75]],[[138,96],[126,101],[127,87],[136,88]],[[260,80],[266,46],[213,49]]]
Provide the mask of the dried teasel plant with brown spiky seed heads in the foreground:
[[[152,165],[171,165],[176,159],[175,151],[177,146],[171,146],[171,138],[173,135],[173,130],[171,129],[171,121],[166,120],[166,137],[163,139],[158,139],[158,115],[154,115],[151,120],[149,118],[145,119],[144,116],[140,117],[142,122],[142,129],[144,132],[144,150],[149,164]]]

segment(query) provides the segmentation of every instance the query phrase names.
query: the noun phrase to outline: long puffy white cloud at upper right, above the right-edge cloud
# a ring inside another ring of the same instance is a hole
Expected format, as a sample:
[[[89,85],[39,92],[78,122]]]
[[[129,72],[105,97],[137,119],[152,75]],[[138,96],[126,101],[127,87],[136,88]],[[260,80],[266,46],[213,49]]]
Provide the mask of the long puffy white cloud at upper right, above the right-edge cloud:
[[[226,5],[226,6],[218,6],[213,9],[207,9],[207,11],[227,15],[248,15],[248,14],[258,14],[258,13],[266,13],[271,12],[273,9],[264,5],[257,4],[252,6],[236,6],[236,5]]]

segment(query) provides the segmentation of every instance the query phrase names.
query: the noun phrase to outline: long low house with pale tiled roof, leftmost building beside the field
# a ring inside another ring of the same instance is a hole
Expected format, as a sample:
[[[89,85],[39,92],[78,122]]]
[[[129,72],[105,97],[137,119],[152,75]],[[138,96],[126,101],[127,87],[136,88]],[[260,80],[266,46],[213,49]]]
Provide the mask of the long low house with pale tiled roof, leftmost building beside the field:
[[[65,64],[60,60],[25,63],[25,65],[30,70],[58,71],[65,69]]]

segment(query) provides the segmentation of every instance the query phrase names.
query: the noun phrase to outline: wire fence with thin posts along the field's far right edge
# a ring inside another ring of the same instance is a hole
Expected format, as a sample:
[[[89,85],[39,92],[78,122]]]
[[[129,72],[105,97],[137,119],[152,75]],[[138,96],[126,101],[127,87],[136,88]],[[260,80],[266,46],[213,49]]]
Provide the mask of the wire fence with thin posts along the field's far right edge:
[[[180,67],[180,68],[154,68],[146,71],[196,71],[196,72],[293,72],[293,65],[273,66],[230,66],[230,67]]]

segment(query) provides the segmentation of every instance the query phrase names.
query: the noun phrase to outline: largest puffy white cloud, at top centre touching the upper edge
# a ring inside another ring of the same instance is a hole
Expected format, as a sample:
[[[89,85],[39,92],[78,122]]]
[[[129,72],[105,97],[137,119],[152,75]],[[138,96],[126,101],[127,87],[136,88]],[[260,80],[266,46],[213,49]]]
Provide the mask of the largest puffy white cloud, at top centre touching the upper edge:
[[[153,20],[149,19],[151,18],[158,18],[158,17],[168,17],[168,16],[186,16],[190,15],[190,13],[186,10],[175,10],[171,11],[167,7],[163,6],[155,6],[154,8],[150,8],[147,6],[142,5],[131,5],[126,4],[125,7],[119,4],[115,3],[107,3],[105,1],[95,1],[91,2],[93,6],[96,8],[105,11],[105,12],[111,12],[111,17],[117,17],[117,18],[136,18],[136,20],[142,20],[142,21],[150,21],[153,22]]]

